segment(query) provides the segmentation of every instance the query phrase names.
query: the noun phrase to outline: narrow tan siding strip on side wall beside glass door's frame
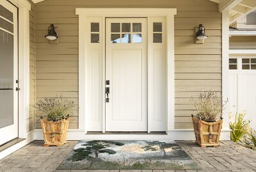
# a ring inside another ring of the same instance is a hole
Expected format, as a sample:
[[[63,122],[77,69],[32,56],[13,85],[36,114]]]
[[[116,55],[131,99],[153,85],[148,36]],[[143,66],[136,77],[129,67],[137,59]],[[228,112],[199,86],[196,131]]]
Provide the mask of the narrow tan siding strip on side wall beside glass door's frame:
[[[29,1],[31,10],[29,11],[29,104],[35,104],[35,4]],[[27,131],[35,129],[35,108],[29,107],[29,125]]]

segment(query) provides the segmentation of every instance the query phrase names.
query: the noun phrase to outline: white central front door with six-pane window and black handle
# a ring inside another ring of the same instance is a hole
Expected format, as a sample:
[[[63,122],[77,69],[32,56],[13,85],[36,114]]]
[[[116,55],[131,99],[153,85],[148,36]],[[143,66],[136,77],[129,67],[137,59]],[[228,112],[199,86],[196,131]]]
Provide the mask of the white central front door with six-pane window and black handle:
[[[147,18],[106,18],[106,131],[147,131]]]

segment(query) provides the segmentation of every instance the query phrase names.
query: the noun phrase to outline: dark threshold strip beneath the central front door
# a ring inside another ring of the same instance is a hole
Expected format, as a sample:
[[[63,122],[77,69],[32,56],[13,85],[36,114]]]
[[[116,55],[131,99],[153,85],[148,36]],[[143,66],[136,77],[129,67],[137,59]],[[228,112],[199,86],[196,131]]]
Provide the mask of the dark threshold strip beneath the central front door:
[[[165,131],[152,131],[148,133],[147,131],[141,132],[141,131],[106,131],[105,133],[102,133],[101,131],[88,131],[86,134],[146,134],[146,135],[167,135]]]

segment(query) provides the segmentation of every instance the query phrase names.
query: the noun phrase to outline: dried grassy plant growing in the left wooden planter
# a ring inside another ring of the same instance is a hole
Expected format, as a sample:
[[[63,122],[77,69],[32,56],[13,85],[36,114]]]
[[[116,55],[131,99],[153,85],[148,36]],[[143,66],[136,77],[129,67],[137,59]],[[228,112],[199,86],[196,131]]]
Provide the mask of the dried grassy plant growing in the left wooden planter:
[[[38,100],[33,107],[47,115],[47,120],[56,121],[68,115],[73,106],[74,101],[70,101],[70,99],[66,99],[62,95],[56,95],[56,97],[45,97]]]

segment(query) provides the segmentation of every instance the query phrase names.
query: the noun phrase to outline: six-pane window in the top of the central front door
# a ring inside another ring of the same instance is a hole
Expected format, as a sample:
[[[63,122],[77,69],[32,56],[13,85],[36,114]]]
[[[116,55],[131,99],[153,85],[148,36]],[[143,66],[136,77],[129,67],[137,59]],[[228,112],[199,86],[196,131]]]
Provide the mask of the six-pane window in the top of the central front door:
[[[111,43],[142,43],[141,23],[111,23]]]

